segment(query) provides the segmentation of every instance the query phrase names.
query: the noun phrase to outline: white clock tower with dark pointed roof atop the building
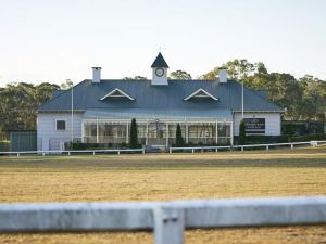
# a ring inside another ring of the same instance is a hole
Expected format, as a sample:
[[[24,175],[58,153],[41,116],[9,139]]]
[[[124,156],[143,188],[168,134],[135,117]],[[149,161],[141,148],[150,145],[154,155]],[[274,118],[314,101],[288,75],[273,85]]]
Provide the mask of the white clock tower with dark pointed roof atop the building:
[[[153,86],[167,86],[167,68],[162,53],[160,52],[152,64],[152,85]]]

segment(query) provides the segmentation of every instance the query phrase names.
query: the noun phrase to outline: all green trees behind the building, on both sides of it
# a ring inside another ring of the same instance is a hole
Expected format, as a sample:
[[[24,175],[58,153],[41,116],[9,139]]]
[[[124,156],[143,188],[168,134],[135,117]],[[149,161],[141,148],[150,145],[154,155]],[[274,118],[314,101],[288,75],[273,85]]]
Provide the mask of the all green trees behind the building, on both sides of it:
[[[325,121],[326,81],[313,76],[296,79],[290,74],[268,73],[263,63],[233,60],[199,77],[216,80],[220,68],[227,68],[228,76],[243,81],[253,90],[265,90],[268,99],[286,110],[286,120]],[[140,77],[140,76],[139,76]],[[191,79],[184,70],[172,72],[171,79]],[[141,77],[143,79],[143,77]],[[0,88],[0,131],[36,129],[37,107],[51,98],[53,90],[67,89],[54,84],[10,84]]]

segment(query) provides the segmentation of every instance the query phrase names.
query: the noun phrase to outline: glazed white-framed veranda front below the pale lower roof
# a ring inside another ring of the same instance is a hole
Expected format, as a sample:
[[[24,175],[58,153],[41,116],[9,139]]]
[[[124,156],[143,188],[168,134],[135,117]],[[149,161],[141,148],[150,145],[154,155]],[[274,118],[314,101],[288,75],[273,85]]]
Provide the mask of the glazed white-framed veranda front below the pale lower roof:
[[[186,144],[233,144],[233,121],[227,119],[136,119],[142,145],[170,146],[180,125]],[[129,142],[129,119],[97,118],[83,120],[83,142],[122,144]]]

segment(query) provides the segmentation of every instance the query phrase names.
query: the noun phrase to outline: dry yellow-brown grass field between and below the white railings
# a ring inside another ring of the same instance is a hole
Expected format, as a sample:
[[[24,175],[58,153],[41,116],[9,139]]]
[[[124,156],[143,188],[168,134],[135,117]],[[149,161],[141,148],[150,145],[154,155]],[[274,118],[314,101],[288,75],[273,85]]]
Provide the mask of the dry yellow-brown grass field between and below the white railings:
[[[326,147],[0,157],[0,202],[326,195]],[[151,243],[150,233],[0,234],[0,243]],[[193,230],[186,243],[326,243],[326,227]]]

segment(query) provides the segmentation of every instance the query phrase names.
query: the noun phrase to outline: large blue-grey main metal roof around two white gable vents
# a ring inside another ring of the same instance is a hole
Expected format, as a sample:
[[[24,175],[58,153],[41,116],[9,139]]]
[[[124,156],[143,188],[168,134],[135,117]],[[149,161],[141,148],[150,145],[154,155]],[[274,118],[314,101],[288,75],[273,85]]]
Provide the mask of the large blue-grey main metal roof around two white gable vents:
[[[118,88],[131,98],[100,99],[113,89]],[[189,94],[198,89],[204,89],[218,99],[189,99]],[[227,84],[205,80],[168,80],[168,86],[151,86],[150,80],[101,80],[92,84],[84,80],[74,87],[74,110],[95,108],[145,108],[153,110],[198,110],[204,117],[204,110],[226,108],[241,111],[241,84],[228,80]],[[70,111],[71,89],[52,98],[39,107],[41,111]],[[202,111],[202,112],[200,112]],[[244,111],[283,112],[273,102],[262,98],[256,92],[244,88]]]

